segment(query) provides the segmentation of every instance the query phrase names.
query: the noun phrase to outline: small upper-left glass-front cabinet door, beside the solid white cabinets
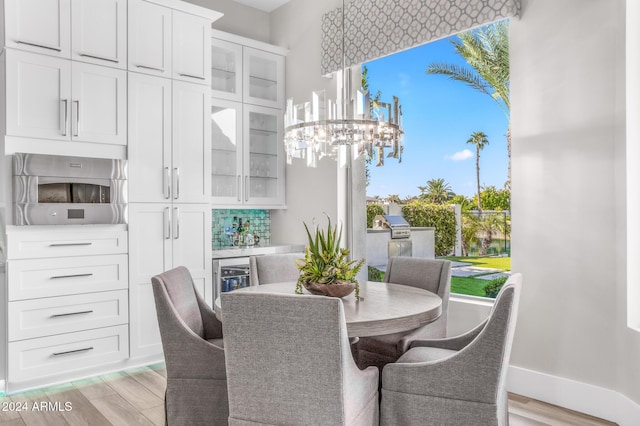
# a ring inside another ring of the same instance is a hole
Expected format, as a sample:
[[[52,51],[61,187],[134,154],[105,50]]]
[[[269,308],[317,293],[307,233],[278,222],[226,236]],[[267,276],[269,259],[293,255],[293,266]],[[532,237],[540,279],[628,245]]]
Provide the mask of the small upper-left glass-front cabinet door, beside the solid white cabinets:
[[[211,89],[214,98],[242,102],[242,46],[211,40]]]

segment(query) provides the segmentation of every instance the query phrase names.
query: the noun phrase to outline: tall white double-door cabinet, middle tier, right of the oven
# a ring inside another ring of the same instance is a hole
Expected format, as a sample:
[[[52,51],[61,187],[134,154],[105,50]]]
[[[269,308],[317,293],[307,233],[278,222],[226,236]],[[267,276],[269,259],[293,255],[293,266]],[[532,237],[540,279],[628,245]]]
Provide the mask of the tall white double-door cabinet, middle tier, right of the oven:
[[[129,77],[129,200],[209,202],[208,87]]]

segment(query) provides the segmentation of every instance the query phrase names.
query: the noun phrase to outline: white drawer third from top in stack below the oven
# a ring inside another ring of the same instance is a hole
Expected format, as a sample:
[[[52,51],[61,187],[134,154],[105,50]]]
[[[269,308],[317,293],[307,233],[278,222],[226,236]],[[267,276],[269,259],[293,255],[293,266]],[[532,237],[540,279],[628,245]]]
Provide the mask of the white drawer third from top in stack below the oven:
[[[127,290],[9,302],[9,341],[126,324]]]

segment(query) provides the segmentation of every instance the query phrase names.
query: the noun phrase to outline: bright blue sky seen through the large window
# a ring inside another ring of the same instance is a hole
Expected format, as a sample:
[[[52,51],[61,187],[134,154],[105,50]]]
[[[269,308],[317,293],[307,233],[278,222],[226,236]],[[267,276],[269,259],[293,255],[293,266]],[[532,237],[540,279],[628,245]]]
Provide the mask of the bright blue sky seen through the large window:
[[[432,62],[466,65],[450,39],[431,42],[366,63],[369,88],[382,100],[400,98],[404,123],[402,163],[385,158],[369,166],[367,195],[400,198],[418,195],[418,186],[443,178],[456,194],[476,193],[475,147],[466,143],[473,132],[487,134],[480,153],[480,184],[502,188],[507,179],[508,119],[489,96],[442,75],[426,74]],[[468,150],[469,152],[465,152]],[[375,160],[375,159],[374,159]]]

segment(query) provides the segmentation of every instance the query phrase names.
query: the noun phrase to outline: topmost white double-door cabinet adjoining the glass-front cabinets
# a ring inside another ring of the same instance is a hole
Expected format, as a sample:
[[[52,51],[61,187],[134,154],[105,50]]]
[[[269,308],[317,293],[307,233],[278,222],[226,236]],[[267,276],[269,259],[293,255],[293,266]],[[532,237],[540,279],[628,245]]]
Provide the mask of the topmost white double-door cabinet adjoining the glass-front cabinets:
[[[129,0],[129,70],[211,83],[211,19]]]

